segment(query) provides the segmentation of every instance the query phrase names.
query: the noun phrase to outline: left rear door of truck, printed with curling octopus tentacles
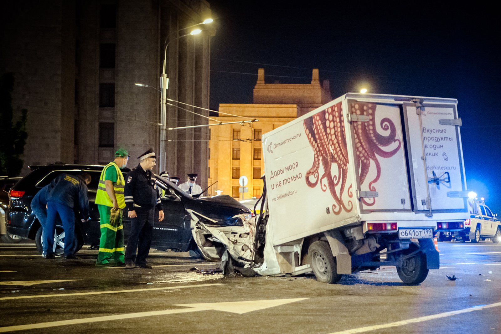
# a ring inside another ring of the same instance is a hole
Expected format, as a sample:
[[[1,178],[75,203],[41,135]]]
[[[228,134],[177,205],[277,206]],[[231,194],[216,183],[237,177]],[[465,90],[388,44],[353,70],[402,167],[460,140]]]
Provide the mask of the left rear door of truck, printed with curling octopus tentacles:
[[[362,212],[410,211],[400,104],[348,99]]]

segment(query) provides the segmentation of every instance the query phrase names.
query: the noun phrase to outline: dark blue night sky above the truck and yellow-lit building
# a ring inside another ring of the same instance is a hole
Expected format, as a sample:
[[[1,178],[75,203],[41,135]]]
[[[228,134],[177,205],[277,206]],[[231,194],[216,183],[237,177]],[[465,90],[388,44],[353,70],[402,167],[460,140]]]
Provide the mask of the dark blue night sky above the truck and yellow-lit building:
[[[267,83],[305,84],[318,68],[320,79],[330,80],[333,99],[362,86],[370,93],[455,98],[468,190],[501,213],[501,41],[494,10],[458,3],[209,3],[216,29],[211,109],[252,103],[258,68],[265,69]]]

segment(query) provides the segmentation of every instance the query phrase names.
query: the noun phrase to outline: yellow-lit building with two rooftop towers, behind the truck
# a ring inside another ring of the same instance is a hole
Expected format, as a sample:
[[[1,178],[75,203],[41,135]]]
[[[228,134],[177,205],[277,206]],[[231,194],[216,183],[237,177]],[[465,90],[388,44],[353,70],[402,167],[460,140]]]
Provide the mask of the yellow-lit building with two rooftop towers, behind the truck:
[[[261,176],[265,171],[261,136],[331,100],[329,81],[320,85],[318,69],[313,69],[311,84],[267,84],[265,70],[259,69],[254,103],[219,104],[219,116],[214,117],[219,122],[250,119],[259,122],[252,126],[247,123],[211,127],[208,183],[217,183],[209,189],[209,194],[215,195],[216,190],[220,190],[222,194],[241,199],[238,178],[246,176],[248,191],[243,193],[243,198],[261,196]]]

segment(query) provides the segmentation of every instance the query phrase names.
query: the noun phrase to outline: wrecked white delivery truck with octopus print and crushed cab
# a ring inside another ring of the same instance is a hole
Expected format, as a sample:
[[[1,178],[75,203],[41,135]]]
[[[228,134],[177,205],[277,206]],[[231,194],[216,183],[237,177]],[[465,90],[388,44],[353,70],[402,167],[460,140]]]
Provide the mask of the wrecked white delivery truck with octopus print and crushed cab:
[[[218,227],[191,213],[193,235],[263,275],[313,271],[334,283],[390,265],[419,284],[439,268],[437,223],[469,218],[456,106],[343,95],[263,135],[260,215]]]

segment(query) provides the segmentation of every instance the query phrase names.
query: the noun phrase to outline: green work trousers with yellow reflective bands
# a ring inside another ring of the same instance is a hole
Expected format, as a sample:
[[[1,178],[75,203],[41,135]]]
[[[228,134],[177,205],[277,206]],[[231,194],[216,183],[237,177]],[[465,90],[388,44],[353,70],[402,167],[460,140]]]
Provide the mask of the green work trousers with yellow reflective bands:
[[[101,216],[101,239],[96,265],[124,263],[124,230],[122,225],[123,210],[111,212],[111,207],[98,204]]]

